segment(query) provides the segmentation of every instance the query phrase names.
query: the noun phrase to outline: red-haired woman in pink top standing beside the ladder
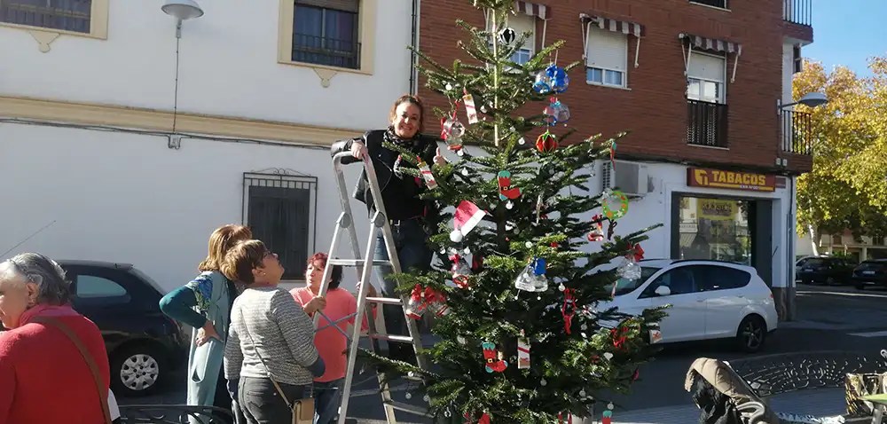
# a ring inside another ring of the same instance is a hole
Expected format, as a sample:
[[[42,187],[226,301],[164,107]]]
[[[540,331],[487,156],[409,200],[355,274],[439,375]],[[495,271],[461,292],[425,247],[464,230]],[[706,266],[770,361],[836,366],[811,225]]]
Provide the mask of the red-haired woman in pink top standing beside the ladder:
[[[290,292],[293,294],[295,301],[302,304],[305,312],[308,312],[311,316],[313,316],[314,310],[310,310],[308,302],[314,299],[320,291],[327,257],[326,253],[316,253],[311,256],[308,259],[308,266],[305,268],[305,287],[294,288]],[[334,265],[330,276],[330,284],[326,290],[324,315],[333,321],[339,321],[337,326],[341,331],[347,333],[348,325],[354,325],[355,323],[353,315],[357,312],[357,299],[348,293],[348,290],[339,288],[340,283],[341,266]],[[369,291],[370,297],[376,296],[376,290],[372,285],[369,287]],[[373,305],[373,316],[375,316],[374,307],[375,305]],[[349,315],[352,315],[352,317],[342,319]],[[339,330],[329,325],[330,321],[321,316],[318,328],[326,328],[320,330],[314,336],[314,345],[318,348],[320,357],[324,359],[326,364],[326,373],[314,379],[314,406],[316,411],[314,424],[329,424],[333,422],[335,415],[339,411],[341,384],[345,379],[345,366],[348,362],[348,358],[345,357],[345,350],[348,349],[348,340]],[[362,319],[361,326],[362,328],[367,326],[366,317]]]

